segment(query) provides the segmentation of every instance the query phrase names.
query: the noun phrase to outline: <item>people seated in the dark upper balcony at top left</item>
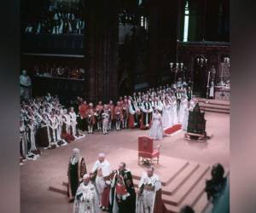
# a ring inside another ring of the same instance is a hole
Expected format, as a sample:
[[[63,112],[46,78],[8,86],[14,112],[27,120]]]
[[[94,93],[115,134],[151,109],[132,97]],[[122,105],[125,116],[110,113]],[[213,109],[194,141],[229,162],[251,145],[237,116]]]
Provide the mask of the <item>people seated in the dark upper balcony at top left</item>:
[[[61,3],[49,5],[49,9],[41,14],[39,20],[33,18],[33,21],[27,23],[24,31],[34,34],[83,34],[85,24],[82,13],[78,9]]]

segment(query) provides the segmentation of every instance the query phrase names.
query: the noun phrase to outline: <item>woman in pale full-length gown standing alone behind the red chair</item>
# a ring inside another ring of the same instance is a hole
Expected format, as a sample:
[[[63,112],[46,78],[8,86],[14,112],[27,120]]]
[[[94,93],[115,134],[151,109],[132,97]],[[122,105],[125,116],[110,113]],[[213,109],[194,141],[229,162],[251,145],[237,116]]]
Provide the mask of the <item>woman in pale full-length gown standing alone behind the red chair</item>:
[[[149,130],[149,136],[154,140],[161,140],[164,135],[164,130],[162,126],[162,116],[160,112],[156,109],[153,114],[153,124]]]

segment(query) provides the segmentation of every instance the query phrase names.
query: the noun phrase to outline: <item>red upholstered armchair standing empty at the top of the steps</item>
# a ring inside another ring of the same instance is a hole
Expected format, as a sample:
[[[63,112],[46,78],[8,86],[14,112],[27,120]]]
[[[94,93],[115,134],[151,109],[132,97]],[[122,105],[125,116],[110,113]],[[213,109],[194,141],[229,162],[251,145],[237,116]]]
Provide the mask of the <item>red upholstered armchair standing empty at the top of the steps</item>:
[[[141,162],[141,158],[143,158],[143,162],[148,162],[153,164],[154,158],[157,158],[157,164],[159,164],[160,157],[160,146],[154,148],[154,141],[152,138],[147,136],[139,136],[138,137],[138,164]]]

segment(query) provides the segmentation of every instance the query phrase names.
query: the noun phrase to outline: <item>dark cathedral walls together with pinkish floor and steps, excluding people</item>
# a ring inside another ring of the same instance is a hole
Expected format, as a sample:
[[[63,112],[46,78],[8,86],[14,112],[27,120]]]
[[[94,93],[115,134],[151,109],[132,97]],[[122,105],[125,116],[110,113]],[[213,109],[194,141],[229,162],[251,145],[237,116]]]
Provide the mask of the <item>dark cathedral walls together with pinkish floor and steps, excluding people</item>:
[[[94,106],[116,105],[120,96],[184,83],[203,110],[207,140],[188,141],[183,130],[173,130],[154,141],[164,210],[150,213],[228,212],[216,211],[205,189],[213,164],[223,166],[226,178],[230,174],[229,0],[22,0],[20,68],[31,78],[32,97],[57,95],[64,107],[75,107],[78,97]],[[112,169],[125,162],[138,188],[146,170],[137,164],[138,137],[150,130],[92,135],[85,129],[67,146],[40,148],[36,160],[22,162],[20,212],[75,213],[67,199],[75,147],[87,170],[98,153]],[[181,211],[184,205],[194,211]]]

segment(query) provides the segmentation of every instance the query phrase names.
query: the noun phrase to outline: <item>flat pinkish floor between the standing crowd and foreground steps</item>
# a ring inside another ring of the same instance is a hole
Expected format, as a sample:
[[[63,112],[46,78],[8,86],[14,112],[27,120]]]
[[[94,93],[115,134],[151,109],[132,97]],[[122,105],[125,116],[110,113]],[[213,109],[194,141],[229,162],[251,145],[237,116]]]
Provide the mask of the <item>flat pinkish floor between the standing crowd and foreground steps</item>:
[[[184,132],[181,131],[156,142],[161,144],[160,154],[207,165],[218,162],[225,168],[230,168],[230,115],[206,112],[206,119],[207,133],[213,135],[211,140],[207,143],[185,141]],[[136,159],[136,164],[137,155],[128,151],[137,151],[138,135],[148,135],[148,130],[112,131],[109,135],[96,133],[86,135],[65,147],[43,150],[38,160],[27,161],[20,166],[20,212],[71,213],[73,205],[67,203],[67,198],[62,194],[49,191],[49,186],[63,188],[61,184],[67,181],[67,161],[72,149],[79,147],[88,170],[91,170],[92,164],[96,161],[97,153],[106,153],[106,158],[109,158],[110,164],[113,165],[117,165],[125,158]],[[130,167],[133,168],[134,164]],[[127,166],[129,167],[129,164]]]

